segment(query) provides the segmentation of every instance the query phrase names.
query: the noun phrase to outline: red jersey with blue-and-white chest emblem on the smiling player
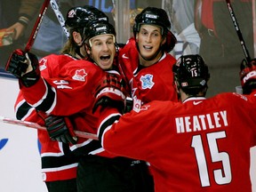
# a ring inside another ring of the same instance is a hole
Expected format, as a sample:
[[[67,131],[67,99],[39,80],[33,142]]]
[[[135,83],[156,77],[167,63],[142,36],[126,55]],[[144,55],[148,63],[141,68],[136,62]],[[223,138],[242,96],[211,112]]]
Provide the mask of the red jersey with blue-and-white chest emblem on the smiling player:
[[[119,52],[119,68],[124,73],[132,91],[132,98],[147,103],[151,100],[178,101],[174,89],[172,66],[176,60],[164,53],[161,60],[147,68],[139,65],[139,52],[131,38]]]

